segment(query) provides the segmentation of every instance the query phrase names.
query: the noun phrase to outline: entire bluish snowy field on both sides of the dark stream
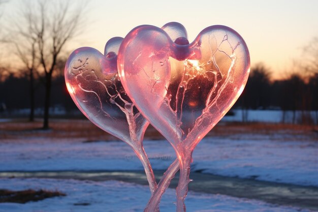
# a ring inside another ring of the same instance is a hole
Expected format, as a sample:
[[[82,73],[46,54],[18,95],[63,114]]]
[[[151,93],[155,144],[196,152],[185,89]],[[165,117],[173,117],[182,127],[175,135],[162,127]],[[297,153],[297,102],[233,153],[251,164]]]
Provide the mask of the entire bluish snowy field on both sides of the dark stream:
[[[64,122],[56,123],[67,126]],[[79,126],[83,127],[82,124]],[[313,131],[276,129],[276,124],[274,129],[272,126],[267,130],[255,124],[248,127],[220,123],[220,126],[214,129],[216,132],[211,134],[214,136],[204,138],[195,149],[192,172],[318,187],[318,136]],[[59,134],[54,137],[54,133]],[[133,150],[122,141],[87,142],[96,139],[66,138],[63,133],[66,132],[12,131],[8,133],[11,137],[1,139],[0,189],[58,190],[67,196],[26,204],[0,203],[0,212],[143,211],[150,195],[147,186],[121,181],[10,178],[10,172],[143,170]],[[174,150],[166,140],[145,140],[144,146],[153,169],[165,170],[175,160]],[[175,190],[168,189],[163,196],[161,212],[175,211],[174,201]],[[189,212],[311,211],[193,191],[188,193],[186,206]]]

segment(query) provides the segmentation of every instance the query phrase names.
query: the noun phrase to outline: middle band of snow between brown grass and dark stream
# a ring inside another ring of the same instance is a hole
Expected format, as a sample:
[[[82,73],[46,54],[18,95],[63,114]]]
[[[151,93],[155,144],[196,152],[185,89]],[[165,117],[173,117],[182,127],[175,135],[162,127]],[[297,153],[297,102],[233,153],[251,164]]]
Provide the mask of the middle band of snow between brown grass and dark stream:
[[[175,159],[164,140],[144,141],[154,169]],[[44,140],[0,143],[0,171],[142,170],[124,142]],[[194,152],[192,171],[318,186],[318,142],[283,141],[275,136],[205,138]]]

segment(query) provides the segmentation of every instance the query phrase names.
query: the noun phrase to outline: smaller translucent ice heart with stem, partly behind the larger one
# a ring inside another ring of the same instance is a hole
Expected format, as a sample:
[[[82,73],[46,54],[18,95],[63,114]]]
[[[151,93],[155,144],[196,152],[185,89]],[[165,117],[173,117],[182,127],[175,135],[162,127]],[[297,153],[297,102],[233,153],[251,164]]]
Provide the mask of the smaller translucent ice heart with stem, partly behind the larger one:
[[[110,39],[105,46],[105,56],[90,47],[76,49],[66,63],[66,85],[77,107],[92,123],[133,148],[145,168],[153,193],[156,182],[142,145],[149,123],[120,82],[117,53],[121,41],[119,37]]]

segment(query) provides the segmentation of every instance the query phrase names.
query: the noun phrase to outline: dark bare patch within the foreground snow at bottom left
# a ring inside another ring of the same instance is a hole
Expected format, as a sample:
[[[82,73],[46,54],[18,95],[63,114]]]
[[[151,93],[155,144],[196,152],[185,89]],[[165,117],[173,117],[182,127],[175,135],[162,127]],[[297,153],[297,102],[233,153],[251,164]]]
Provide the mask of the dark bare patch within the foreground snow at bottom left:
[[[15,202],[15,203],[26,203],[30,201],[40,201],[46,198],[66,196],[66,194],[58,191],[47,191],[47,190],[23,190],[23,191],[10,191],[0,189],[0,203],[3,202]]]

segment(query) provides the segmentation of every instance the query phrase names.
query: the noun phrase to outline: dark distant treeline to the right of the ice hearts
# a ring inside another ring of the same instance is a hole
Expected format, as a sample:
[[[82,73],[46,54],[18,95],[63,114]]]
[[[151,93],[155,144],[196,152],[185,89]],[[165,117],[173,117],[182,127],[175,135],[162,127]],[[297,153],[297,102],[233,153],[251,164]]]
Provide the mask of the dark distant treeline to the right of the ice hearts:
[[[313,124],[318,120],[318,73],[306,78],[299,73],[290,74],[281,80],[270,80],[270,72],[258,65],[251,70],[246,87],[235,108],[279,109],[293,111],[293,123]],[[296,111],[302,111],[302,119],[296,120]],[[316,111],[312,117],[308,111]],[[242,117],[242,120],[247,119]],[[316,121],[314,121],[316,120]]]

